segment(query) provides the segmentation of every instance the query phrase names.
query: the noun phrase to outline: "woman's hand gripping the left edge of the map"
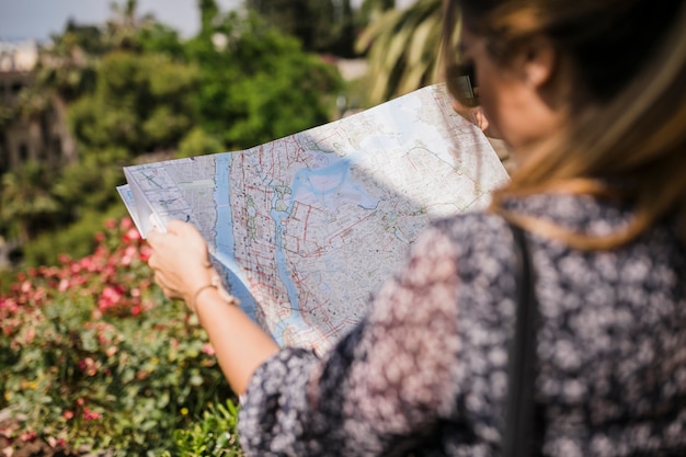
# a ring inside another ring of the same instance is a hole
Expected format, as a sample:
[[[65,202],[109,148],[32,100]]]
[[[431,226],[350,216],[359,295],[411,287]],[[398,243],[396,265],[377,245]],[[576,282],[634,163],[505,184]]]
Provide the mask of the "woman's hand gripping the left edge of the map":
[[[165,233],[150,230],[148,243],[152,248],[148,264],[157,284],[165,296],[183,298],[192,307],[196,290],[210,284],[216,275],[201,233],[191,224],[172,220]]]

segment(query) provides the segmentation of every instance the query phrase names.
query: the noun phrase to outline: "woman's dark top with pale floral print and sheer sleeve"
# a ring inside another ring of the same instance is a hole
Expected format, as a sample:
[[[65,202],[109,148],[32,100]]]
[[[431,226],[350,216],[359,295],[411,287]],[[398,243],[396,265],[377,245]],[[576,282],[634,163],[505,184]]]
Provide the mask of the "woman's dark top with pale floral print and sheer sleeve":
[[[588,197],[512,206],[597,235],[631,217]],[[676,224],[595,253],[528,238],[542,454],[686,456],[686,248]],[[332,351],[285,349],[258,369],[239,416],[247,454],[498,455],[513,265],[500,217],[434,224]]]

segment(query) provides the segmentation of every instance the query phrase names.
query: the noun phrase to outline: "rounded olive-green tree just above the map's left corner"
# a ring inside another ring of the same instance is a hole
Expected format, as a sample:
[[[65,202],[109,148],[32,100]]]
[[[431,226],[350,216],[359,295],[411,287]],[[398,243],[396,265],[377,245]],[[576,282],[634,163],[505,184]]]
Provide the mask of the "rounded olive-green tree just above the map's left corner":
[[[187,94],[195,81],[194,67],[165,55],[111,53],[100,64],[95,92],[71,105],[71,130],[85,149],[173,148],[194,123]]]

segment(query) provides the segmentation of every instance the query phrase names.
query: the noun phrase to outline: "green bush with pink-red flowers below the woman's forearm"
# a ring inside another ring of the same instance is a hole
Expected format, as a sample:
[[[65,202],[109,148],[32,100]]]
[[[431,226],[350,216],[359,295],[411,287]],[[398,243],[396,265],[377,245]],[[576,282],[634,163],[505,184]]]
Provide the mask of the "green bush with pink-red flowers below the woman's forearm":
[[[175,430],[232,393],[195,318],[151,282],[130,219],[108,222],[96,241],[90,256],[0,284],[0,410],[15,418],[0,434],[169,453]]]

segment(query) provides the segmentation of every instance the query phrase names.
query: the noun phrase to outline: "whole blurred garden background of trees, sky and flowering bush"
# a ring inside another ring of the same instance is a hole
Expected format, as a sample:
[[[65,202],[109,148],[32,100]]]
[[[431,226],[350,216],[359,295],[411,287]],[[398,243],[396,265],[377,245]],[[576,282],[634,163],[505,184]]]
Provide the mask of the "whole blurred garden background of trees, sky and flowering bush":
[[[441,0],[0,0],[0,456],[241,456],[115,187],[439,80]]]

